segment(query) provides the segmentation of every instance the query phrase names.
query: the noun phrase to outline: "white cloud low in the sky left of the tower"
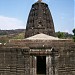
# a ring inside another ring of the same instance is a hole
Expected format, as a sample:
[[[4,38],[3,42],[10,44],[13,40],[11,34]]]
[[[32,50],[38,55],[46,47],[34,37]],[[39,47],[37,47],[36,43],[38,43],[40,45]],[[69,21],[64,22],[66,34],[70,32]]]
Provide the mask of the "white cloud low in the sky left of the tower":
[[[0,29],[9,30],[9,29],[18,29],[24,28],[25,25],[21,20],[16,18],[10,18],[5,16],[0,16]]]

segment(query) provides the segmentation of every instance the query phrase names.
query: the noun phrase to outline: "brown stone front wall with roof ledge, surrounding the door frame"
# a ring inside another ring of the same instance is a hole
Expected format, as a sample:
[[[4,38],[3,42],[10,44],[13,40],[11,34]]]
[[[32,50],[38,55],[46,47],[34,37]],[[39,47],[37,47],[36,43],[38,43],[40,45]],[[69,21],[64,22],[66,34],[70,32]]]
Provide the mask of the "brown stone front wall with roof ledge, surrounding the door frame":
[[[54,63],[55,75],[75,75],[75,43],[71,40],[11,41],[0,48],[0,75],[30,75],[30,49],[51,47],[58,51]]]

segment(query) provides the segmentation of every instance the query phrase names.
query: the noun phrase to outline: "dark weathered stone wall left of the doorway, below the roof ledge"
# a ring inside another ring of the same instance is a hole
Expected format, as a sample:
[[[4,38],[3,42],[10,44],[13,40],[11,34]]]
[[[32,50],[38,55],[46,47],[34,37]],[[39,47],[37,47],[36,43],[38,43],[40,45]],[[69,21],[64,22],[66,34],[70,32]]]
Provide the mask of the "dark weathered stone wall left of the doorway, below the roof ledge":
[[[0,75],[29,75],[29,63],[21,48],[0,49]]]

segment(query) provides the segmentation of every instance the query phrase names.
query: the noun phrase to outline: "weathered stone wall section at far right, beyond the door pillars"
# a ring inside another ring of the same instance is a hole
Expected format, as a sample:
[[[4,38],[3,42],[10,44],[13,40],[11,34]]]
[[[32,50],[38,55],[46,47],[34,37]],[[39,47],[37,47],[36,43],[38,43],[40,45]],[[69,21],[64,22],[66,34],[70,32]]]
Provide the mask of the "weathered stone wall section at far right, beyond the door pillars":
[[[75,74],[75,48],[63,47],[58,57],[59,75]]]

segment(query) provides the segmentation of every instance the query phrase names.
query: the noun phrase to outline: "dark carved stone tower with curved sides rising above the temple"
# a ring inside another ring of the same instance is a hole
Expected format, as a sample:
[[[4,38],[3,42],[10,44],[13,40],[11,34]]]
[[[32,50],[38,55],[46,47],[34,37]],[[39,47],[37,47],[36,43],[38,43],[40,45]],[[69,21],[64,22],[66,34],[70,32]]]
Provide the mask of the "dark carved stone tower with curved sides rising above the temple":
[[[31,7],[26,25],[25,38],[40,33],[50,36],[54,36],[55,34],[51,12],[48,5],[42,2],[42,0],[38,0]]]

